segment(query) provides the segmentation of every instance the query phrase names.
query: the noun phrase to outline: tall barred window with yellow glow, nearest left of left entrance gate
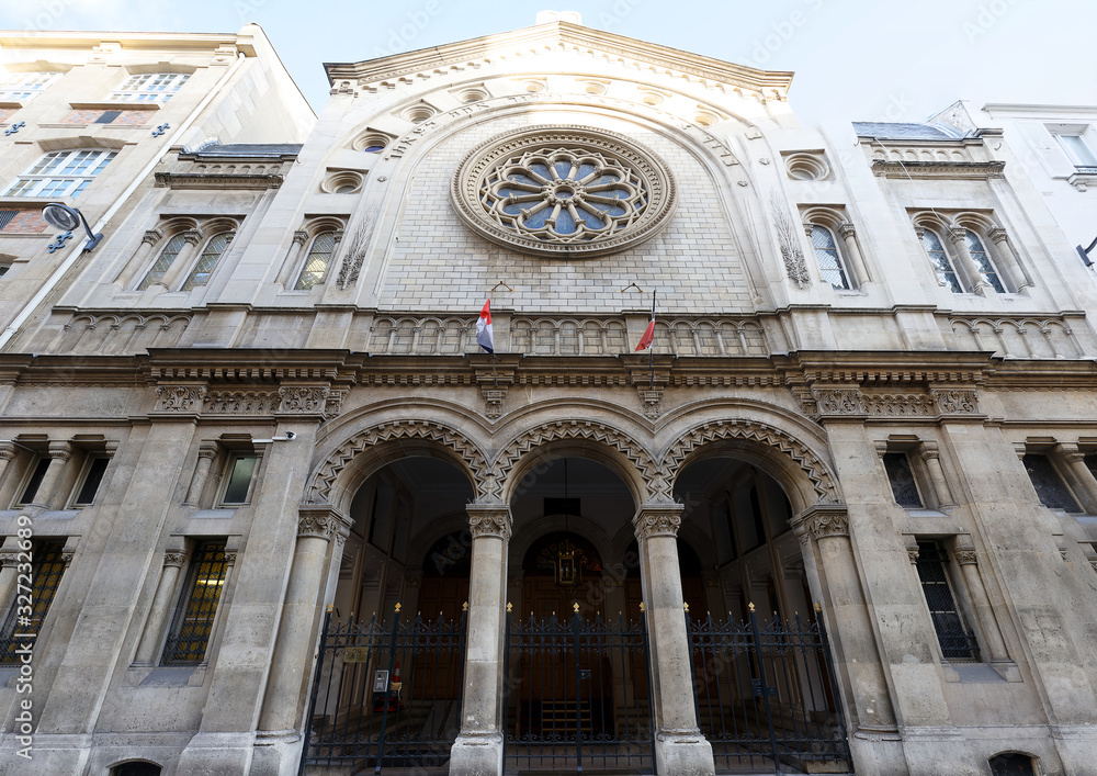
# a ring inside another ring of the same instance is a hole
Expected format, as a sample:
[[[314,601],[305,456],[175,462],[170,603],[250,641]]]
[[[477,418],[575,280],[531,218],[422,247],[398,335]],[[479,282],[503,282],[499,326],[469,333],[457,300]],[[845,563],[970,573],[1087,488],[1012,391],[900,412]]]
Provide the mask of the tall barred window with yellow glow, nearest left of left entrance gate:
[[[199,665],[205,660],[220,591],[228,574],[225,542],[203,541],[194,548],[179,606],[163,645],[163,665]]]

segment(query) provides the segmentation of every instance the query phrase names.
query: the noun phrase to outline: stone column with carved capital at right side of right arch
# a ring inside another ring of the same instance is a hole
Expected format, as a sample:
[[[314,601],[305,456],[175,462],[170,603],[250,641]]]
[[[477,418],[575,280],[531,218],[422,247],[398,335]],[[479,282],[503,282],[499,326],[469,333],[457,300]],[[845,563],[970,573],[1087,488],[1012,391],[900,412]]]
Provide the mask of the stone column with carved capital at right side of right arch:
[[[832,645],[837,653],[836,661],[844,664],[849,676],[857,728],[894,735],[895,711],[866,607],[853,546],[849,541],[846,507],[817,504],[792,520],[792,530],[802,543],[814,539],[818,549],[821,576],[829,593],[834,618]]]

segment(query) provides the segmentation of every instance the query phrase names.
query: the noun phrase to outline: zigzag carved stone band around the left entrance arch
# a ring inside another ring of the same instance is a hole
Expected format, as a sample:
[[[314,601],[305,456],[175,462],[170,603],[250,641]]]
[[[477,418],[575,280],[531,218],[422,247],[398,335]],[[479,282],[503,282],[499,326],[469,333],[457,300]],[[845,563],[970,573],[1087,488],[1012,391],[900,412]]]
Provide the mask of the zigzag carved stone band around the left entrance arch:
[[[484,495],[487,477],[487,457],[479,446],[452,426],[430,420],[393,420],[359,431],[328,456],[316,470],[308,486],[309,504],[326,504],[331,497],[336,480],[358,456],[369,448],[396,439],[436,442],[452,450],[464,461],[473,479],[477,498]]]

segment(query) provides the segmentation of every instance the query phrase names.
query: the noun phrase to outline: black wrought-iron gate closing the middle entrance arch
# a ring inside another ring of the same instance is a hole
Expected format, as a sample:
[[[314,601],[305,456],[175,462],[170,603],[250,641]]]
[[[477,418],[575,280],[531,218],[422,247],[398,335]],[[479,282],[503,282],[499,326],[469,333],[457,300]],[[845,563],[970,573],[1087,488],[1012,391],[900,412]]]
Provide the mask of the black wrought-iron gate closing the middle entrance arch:
[[[654,773],[643,618],[507,616],[507,772]]]

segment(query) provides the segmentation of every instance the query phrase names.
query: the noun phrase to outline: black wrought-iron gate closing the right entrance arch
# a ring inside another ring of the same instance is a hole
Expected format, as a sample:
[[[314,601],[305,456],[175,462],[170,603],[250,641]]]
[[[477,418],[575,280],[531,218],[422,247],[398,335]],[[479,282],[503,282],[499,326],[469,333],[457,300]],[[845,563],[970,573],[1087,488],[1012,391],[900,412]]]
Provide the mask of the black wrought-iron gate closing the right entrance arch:
[[[823,618],[759,622],[692,619],[690,656],[698,726],[717,769],[847,771],[849,745],[834,690]]]

